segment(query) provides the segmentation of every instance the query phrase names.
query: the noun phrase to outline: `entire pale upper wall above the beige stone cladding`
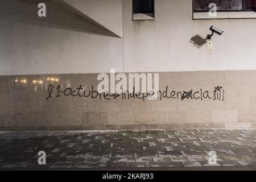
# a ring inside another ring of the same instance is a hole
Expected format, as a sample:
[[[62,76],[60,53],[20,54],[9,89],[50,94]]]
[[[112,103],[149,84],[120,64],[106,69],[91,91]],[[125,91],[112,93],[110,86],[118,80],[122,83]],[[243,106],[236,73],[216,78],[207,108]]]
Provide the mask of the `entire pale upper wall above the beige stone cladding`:
[[[156,0],[156,18],[148,21],[131,20],[132,0],[99,1],[108,11],[89,8],[99,6],[94,1],[66,2],[110,31],[120,36],[123,32],[123,39],[1,20],[0,75],[100,73],[110,68],[118,72],[256,69],[256,19],[192,20],[191,0]],[[193,47],[191,36],[206,36],[212,24],[225,31],[213,36],[214,48]]]

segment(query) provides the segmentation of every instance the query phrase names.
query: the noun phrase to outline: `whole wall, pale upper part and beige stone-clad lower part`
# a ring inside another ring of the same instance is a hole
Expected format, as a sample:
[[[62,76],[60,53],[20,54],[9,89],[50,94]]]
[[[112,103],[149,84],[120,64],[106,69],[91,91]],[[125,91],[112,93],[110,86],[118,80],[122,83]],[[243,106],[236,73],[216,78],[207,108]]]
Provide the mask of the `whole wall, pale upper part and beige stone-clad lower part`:
[[[1,130],[256,127],[256,19],[192,20],[190,0],[156,0],[155,20],[133,21],[131,0],[123,0],[101,1],[117,7],[109,16],[102,11],[105,21],[101,11],[66,2],[123,38],[1,19]],[[123,30],[120,18],[113,16],[122,17]],[[212,24],[225,31],[213,37],[214,48],[193,47],[191,36],[207,35]],[[89,73],[111,68],[161,72],[160,90],[202,90],[211,98],[143,101],[54,94],[47,100],[50,84],[96,89],[97,74]],[[58,81],[47,80],[51,77]],[[213,100],[217,86],[223,100]]]

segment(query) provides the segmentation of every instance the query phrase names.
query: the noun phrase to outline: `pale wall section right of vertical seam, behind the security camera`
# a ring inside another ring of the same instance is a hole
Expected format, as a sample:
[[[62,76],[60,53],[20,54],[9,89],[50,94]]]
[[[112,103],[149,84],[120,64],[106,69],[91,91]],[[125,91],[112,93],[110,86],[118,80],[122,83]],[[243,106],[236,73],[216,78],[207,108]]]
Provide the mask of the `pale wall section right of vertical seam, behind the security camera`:
[[[255,69],[256,19],[192,20],[192,1],[156,0],[155,20],[131,21],[131,0],[123,1],[126,72]],[[213,36],[213,49],[197,49],[192,35]],[[136,65],[136,66],[135,66]]]

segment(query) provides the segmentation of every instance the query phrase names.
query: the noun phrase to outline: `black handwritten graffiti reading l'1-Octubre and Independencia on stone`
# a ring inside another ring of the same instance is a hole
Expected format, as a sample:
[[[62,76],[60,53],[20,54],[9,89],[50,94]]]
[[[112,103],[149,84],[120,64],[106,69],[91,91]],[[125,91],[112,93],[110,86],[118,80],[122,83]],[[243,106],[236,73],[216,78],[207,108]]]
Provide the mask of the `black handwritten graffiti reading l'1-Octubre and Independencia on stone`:
[[[193,89],[187,91],[179,91],[176,92],[174,90],[168,91],[168,86],[166,86],[166,90],[162,91],[159,90],[158,92],[158,100],[163,100],[164,98],[168,99],[176,99],[176,100],[218,100],[224,101],[224,92],[225,90],[222,89],[221,86],[216,86],[214,88],[213,94],[210,94],[209,90],[200,89],[198,91],[194,91]],[[100,98],[100,100],[112,100],[121,97],[122,100],[129,100],[129,99],[139,99],[139,100],[146,100],[148,97],[154,96],[154,91],[141,93],[135,93],[135,88],[133,92],[125,92],[121,94],[110,94],[108,92],[98,93],[97,90],[94,89],[94,86],[90,90],[85,90],[84,87],[79,86],[79,88],[72,89],[72,88],[60,88],[60,85],[49,85],[48,86],[48,97],[47,100],[53,97],[62,97],[62,96],[72,96],[72,97],[90,97],[90,98]]]

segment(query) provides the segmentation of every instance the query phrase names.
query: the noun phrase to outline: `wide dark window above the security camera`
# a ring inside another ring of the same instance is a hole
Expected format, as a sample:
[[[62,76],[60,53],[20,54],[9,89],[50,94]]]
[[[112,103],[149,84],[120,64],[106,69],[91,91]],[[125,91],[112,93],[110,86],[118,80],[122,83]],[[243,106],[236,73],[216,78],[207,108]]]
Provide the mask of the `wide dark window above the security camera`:
[[[256,0],[193,0],[193,11],[209,11],[210,3],[216,3],[217,11],[255,11]]]

